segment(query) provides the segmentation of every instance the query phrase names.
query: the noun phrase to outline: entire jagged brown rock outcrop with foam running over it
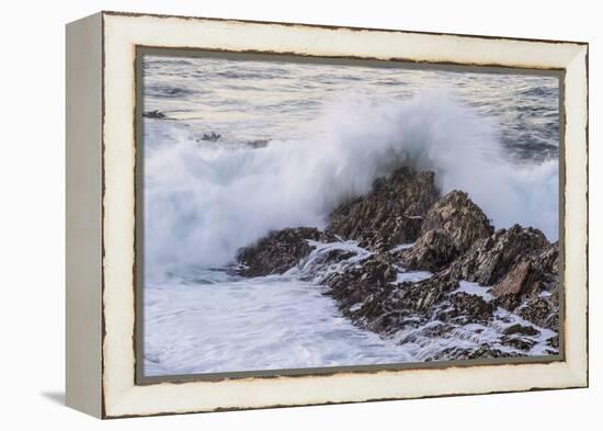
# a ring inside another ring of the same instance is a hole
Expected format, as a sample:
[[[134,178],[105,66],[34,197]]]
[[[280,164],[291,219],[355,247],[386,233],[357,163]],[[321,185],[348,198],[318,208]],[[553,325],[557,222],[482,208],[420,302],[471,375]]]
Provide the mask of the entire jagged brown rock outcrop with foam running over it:
[[[400,168],[323,231],[287,228],[239,250],[237,272],[323,285],[354,325],[416,343],[424,361],[558,353],[558,243],[531,227],[494,230],[466,193],[441,196],[434,180]],[[451,337],[457,345],[430,349]]]

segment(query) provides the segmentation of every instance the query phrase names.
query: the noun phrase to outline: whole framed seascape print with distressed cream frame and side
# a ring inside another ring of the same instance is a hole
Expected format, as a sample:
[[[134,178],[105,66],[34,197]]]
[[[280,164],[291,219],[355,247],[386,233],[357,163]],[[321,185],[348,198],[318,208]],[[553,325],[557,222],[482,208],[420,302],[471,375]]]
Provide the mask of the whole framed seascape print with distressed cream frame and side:
[[[588,45],[67,26],[67,404],[588,385]]]

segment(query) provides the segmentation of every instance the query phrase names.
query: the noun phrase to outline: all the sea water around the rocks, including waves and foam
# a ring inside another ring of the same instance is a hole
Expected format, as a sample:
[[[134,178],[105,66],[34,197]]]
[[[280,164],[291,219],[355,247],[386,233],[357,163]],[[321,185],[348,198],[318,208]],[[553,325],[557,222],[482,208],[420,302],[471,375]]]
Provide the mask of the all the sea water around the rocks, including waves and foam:
[[[556,240],[558,98],[546,76],[146,56],[145,111],[166,117],[144,123],[145,373],[414,362],[496,338],[515,317],[446,340],[382,339],[295,271],[225,268],[272,229],[323,227],[400,165],[468,192],[496,227]]]

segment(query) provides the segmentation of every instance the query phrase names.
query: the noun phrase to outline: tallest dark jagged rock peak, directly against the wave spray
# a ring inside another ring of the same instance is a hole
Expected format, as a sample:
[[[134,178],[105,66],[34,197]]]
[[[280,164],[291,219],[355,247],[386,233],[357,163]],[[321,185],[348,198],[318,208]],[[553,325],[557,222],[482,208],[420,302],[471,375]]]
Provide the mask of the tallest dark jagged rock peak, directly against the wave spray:
[[[416,174],[400,168],[387,179],[377,179],[368,194],[335,208],[327,231],[371,250],[388,250],[417,239],[423,216],[436,199],[433,172]]]

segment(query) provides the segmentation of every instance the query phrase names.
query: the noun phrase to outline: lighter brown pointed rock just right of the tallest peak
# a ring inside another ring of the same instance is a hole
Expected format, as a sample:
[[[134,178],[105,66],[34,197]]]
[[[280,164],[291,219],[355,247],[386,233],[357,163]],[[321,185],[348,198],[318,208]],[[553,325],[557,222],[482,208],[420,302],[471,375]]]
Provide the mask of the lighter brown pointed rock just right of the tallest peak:
[[[421,224],[421,236],[400,252],[406,268],[439,271],[493,231],[488,217],[467,195],[453,191],[439,200]]]

